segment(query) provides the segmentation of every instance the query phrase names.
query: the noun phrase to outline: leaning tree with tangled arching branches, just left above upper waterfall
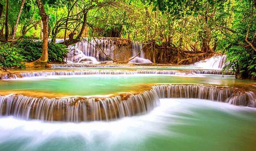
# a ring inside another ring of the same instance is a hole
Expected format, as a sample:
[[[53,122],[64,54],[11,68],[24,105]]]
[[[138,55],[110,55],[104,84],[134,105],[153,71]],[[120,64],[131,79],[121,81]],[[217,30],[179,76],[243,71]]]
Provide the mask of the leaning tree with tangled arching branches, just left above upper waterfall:
[[[74,3],[68,9],[67,16],[60,18],[56,22],[52,30],[53,42],[56,38],[56,35],[63,29],[65,30],[65,33],[67,31],[71,33],[68,35],[69,39],[65,40],[62,44],[69,46],[71,44],[79,42],[86,27],[93,27],[92,23],[88,22],[88,18],[90,18],[90,20],[94,19],[94,16],[89,16],[90,11],[96,10],[96,12],[93,12],[94,14],[97,13],[97,11],[99,11],[100,9],[109,9],[109,7],[114,7],[114,5],[117,5],[117,0],[86,0],[80,1],[80,3],[78,3],[77,1],[78,0],[74,1]],[[70,12],[75,8],[74,6],[76,4],[79,4],[80,11],[74,15],[69,15]],[[78,32],[78,34],[76,34],[76,32]]]

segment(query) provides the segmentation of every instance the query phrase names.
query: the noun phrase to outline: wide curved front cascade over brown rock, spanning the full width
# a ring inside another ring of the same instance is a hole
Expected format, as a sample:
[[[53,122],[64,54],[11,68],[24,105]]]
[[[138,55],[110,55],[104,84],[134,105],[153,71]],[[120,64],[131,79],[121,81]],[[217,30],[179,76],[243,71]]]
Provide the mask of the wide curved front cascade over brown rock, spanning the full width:
[[[155,85],[138,94],[109,98],[37,98],[10,94],[0,96],[0,116],[43,121],[116,120],[152,111],[159,98],[199,98],[256,108],[253,92],[203,85]]]

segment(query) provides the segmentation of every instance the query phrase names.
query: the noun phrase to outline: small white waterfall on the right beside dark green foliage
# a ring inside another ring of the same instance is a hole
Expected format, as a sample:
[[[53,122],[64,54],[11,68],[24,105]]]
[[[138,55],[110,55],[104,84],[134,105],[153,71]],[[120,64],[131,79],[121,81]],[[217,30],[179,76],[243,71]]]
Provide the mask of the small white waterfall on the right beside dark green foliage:
[[[226,57],[227,55],[213,56],[209,59],[196,62],[193,64],[193,66],[198,66],[205,69],[222,69],[229,64],[229,62],[226,62]]]

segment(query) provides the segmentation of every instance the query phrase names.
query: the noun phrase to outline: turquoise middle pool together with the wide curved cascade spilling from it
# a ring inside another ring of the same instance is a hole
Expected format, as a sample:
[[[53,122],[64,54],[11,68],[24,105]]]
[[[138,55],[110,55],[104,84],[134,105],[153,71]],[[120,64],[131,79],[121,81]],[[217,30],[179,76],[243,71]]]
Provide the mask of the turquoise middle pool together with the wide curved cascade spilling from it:
[[[245,88],[250,82],[221,75],[97,74],[19,78],[0,83],[0,90],[10,94],[0,97],[0,116],[43,121],[112,121],[146,114],[159,105],[159,98],[200,98],[255,108],[256,96]],[[240,84],[244,87],[237,89]]]

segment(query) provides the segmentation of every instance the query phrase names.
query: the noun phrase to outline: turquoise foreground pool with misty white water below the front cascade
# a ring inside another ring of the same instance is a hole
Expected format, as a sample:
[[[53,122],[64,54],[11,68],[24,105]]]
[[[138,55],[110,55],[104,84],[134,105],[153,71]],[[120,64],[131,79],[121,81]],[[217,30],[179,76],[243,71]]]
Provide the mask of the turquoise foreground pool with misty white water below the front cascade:
[[[162,99],[143,116],[112,122],[0,119],[0,150],[253,150],[256,109],[199,99]]]

